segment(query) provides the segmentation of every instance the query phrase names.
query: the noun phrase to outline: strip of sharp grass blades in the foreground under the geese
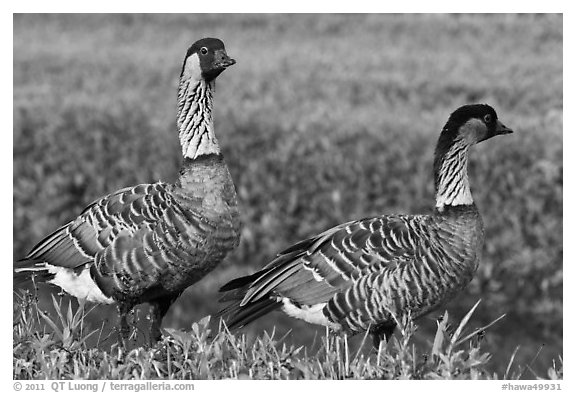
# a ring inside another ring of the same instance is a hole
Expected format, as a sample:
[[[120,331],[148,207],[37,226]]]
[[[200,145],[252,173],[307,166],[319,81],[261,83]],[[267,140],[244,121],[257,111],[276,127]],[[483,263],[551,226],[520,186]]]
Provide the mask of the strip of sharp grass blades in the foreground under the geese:
[[[378,349],[367,336],[355,347],[347,336],[328,333],[308,349],[287,345],[286,336],[274,330],[249,341],[245,334],[231,333],[222,320],[212,332],[208,316],[189,331],[167,329],[154,347],[114,344],[103,350],[98,345],[102,329],[87,331],[82,323],[92,309],[79,303],[73,311],[62,298],[52,301],[54,317],[40,310],[30,293],[20,297],[15,379],[520,379],[529,370],[511,370],[513,354],[505,375],[487,371],[491,355],[481,344],[489,326],[465,334],[478,303],[454,327],[446,312],[432,344],[418,349],[413,343],[416,325],[409,319]],[[98,337],[96,345],[88,344],[91,337]],[[544,378],[562,379],[559,360]]]

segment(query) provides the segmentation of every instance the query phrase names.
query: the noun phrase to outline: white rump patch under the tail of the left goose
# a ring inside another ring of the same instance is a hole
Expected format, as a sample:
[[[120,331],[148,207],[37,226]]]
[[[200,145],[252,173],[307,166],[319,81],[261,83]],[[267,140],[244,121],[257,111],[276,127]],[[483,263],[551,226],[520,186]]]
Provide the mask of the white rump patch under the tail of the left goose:
[[[104,295],[90,276],[90,268],[85,268],[79,275],[72,270],[46,264],[48,271],[54,274],[49,280],[51,284],[58,285],[64,291],[79,299],[89,302],[112,304],[114,299]]]

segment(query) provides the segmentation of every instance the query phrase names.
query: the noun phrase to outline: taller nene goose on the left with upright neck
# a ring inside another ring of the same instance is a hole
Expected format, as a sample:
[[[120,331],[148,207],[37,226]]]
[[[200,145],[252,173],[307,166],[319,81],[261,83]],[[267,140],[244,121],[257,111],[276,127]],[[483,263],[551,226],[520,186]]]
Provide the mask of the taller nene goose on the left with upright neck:
[[[170,305],[234,249],[240,238],[236,191],[212,121],[216,77],[235,64],[222,41],[187,51],[178,87],[183,162],[175,184],[140,184],[90,204],[15,263],[15,283],[34,275],[78,298],[116,303],[120,343],[127,313],[150,303],[150,339],[161,337]]]

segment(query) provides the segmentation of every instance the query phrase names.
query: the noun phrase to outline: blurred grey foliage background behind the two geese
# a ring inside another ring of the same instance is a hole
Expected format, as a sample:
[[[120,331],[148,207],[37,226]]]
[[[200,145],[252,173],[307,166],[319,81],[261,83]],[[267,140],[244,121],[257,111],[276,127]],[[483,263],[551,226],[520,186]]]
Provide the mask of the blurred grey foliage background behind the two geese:
[[[217,311],[219,286],[299,239],[365,216],[429,212],[440,129],[456,107],[486,102],[516,132],[472,153],[485,254],[448,310],[460,318],[483,299],[477,326],[506,313],[484,338],[494,370],[520,346],[514,366],[540,351],[530,367],[545,374],[562,355],[562,24],[560,15],[16,15],[14,259],[106,193],[176,179],[181,61],[214,36],[238,61],[218,79],[215,125],[242,243],[164,326],[189,329]],[[116,324],[113,307],[98,310],[94,323]],[[420,322],[420,340],[433,339],[441,312]],[[299,344],[323,334],[280,313],[246,331],[273,326]]]

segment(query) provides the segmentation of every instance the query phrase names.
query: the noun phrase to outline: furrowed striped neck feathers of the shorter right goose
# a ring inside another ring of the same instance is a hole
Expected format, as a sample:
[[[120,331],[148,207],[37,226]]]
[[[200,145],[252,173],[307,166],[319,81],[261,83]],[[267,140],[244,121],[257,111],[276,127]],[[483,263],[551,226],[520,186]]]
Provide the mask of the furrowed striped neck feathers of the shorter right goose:
[[[441,136],[434,157],[436,209],[439,212],[447,206],[474,204],[468,183],[468,153],[472,144],[462,137],[456,137],[449,144],[443,142]]]

